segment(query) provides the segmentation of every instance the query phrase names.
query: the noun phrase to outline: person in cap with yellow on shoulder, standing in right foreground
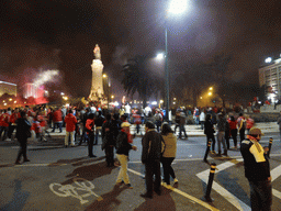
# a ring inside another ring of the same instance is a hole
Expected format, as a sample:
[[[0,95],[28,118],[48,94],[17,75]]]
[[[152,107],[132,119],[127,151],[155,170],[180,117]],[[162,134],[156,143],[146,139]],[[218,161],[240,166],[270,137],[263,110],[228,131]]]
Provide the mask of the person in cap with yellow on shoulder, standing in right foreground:
[[[244,158],[245,176],[250,186],[251,210],[271,210],[272,186],[270,165],[267,156],[268,147],[259,144],[263,135],[258,127],[251,127],[247,138],[241,142],[240,152]]]

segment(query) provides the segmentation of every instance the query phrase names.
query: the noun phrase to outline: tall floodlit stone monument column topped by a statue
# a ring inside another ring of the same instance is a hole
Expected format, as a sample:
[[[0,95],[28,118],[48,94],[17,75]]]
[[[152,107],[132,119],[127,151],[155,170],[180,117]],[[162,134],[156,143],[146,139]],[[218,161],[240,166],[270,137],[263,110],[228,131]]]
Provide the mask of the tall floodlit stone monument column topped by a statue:
[[[94,59],[92,60],[92,87],[89,96],[89,101],[97,101],[105,104],[108,101],[103,92],[102,70],[103,65],[101,62],[101,49],[97,44],[93,49]]]

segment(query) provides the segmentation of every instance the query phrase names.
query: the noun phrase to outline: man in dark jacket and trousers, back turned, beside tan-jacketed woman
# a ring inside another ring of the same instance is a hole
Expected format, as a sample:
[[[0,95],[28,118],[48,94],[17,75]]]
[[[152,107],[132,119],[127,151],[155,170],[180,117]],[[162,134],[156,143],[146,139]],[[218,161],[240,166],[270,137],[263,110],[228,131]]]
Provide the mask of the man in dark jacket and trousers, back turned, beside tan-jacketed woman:
[[[151,199],[153,190],[157,195],[161,195],[160,156],[164,151],[164,138],[155,131],[155,125],[150,121],[146,122],[145,131],[146,134],[142,140],[142,163],[145,165],[146,193],[140,197]]]

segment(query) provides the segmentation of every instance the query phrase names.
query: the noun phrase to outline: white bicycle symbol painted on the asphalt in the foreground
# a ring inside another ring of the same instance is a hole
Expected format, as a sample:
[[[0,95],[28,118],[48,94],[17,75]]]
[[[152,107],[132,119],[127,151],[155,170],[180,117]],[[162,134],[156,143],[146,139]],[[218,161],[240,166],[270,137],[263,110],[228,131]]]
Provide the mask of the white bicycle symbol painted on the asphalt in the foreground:
[[[57,195],[58,197],[75,197],[80,200],[81,204],[89,202],[83,198],[94,196],[98,198],[98,201],[103,200],[102,197],[95,195],[92,190],[94,189],[94,185],[91,181],[88,181],[83,178],[74,178],[74,185],[60,185],[60,184],[50,184],[49,189]],[[79,192],[87,192],[81,193]]]

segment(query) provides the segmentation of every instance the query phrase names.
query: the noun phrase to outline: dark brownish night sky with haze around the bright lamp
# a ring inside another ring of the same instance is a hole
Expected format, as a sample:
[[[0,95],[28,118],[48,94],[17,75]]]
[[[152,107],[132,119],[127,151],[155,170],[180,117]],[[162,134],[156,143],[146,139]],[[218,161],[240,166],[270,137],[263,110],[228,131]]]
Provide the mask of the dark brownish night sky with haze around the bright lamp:
[[[121,97],[122,65],[136,54],[164,52],[165,20],[171,80],[189,63],[225,54],[233,56],[229,80],[257,84],[265,58],[281,53],[279,0],[191,0],[179,16],[166,15],[169,2],[1,0],[1,79],[22,85],[40,71],[58,69],[61,77],[54,84],[88,97],[98,43],[113,93]],[[151,65],[164,74],[159,62],[151,59]]]

